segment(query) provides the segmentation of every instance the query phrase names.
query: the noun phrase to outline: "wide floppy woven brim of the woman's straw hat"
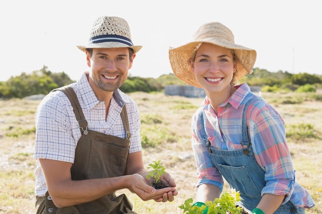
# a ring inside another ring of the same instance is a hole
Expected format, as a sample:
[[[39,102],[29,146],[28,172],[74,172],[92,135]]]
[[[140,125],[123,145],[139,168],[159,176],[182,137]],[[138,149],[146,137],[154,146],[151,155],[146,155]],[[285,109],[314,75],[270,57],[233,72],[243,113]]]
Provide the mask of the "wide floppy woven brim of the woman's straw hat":
[[[202,88],[196,81],[189,64],[189,59],[192,56],[192,53],[200,47],[201,43],[210,43],[224,48],[234,49],[235,55],[239,61],[237,64],[237,71],[234,74],[238,80],[240,80],[245,74],[253,72],[252,69],[257,55],[255,50],[234,43],[228,43],[226,40],[221,40],[219,38],[217,38],[216,41],[214,41],[214,38],[211,38],[211,41],[207,41],[207,39],[205,39],[203,41],[190,42],[177,48],[170,47],[169,49],[169,61],[174,75],[187,84]]]

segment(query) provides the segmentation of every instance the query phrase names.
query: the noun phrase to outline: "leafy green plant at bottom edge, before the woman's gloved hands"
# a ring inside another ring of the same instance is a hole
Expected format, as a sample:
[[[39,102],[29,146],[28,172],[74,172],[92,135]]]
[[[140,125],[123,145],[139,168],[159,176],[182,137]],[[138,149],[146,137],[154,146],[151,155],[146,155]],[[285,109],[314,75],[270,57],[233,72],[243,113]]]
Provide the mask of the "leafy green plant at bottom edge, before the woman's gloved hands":
[[[214,201],[207,201],[205,205],[195,205],[190,198],[180,205],[179,208],[183,209],[183,213],[187,214],[243,214],[247,213],[242,207],[236,205],[236,202],[240,201],[240,193],[235,189],[231,189],[231,192],[223,192],[220,198]]]

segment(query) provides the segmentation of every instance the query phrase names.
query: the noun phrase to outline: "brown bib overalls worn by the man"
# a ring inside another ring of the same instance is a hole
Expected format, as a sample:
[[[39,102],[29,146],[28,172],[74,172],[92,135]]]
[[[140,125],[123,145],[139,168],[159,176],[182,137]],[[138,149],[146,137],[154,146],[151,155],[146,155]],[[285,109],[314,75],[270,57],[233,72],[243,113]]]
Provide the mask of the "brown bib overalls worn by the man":
[[[74,108],[79,122],[82,136],[79,139],[75,152],[75,161],[70,169],[71,180],[99,179],[123,176],[126,169],[130,150],[131,132],[126,106],[123,106],[121,118],[127,131],[126,139],[101,132],[87,130],[87,121],[78,102],[73,88],[64,86],[63,91]],[[132,204],[125,194],[116,197],[115,192],[97,200],[84,204],[57,208],[52,202],[48,191],[44,197],[36,197],[37,214],[68,213],[68,214],[119,214],[136,213],[132,211]]]

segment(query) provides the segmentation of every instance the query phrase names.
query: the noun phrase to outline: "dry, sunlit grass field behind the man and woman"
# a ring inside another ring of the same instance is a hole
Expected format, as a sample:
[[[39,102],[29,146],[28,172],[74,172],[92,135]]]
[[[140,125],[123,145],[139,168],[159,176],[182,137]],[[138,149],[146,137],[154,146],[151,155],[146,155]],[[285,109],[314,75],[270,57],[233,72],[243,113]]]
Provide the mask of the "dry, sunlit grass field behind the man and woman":
[[[195,164],[190,146],[191,115],[202,99],[163,93],[129,94],[141,113],[144,163],[160,160],[177,184],[173,202],[141,201],[126,189],[137,213],[182,213],[178,206],[195,198]],[[307,188],[322,213],[322,102],[310,94],[262,93],[287,123],[297,182]],[[34,213],[34,111],[40,101],[0,100],[0,213]],[[227,184],[225,190],[228,190]]]

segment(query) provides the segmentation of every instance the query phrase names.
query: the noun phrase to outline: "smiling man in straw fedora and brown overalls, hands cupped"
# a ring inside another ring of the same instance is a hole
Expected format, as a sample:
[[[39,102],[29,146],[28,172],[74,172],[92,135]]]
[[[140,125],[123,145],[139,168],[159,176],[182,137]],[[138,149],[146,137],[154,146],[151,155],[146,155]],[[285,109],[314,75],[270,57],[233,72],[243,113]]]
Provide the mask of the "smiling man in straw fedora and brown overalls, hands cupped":
[[[124,194],[115,194],[123,188],[144,201],[173,201],[177,191],[168,173],[164,189],[146,178],[139,111],[118,89],[141,48],[133,45],[127,21],[99,17],[87,46],[77,47],[91,71],[69,89],[50,92],[35,114],[37,213],[135,213]]]

